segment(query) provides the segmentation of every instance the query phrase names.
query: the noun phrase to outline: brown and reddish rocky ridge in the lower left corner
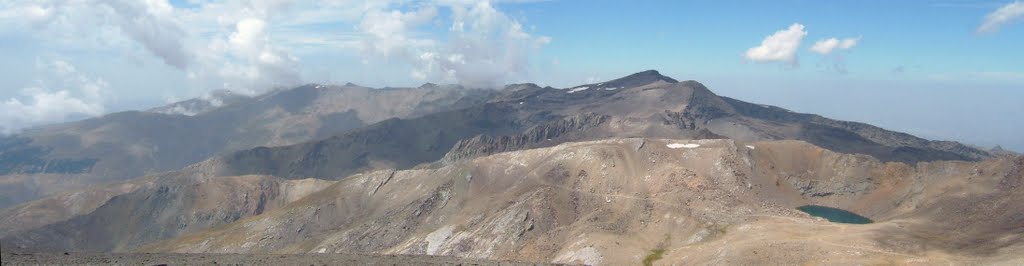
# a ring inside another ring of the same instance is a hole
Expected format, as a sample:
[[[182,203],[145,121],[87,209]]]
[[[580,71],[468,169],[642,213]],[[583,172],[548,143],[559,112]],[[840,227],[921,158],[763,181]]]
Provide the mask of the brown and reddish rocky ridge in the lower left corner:
[[[48,197],[5,211],[11,216],[0,226],[3,229],[0,235],[6,236],[2,240],[5,247],[36,251],[124,252],[258,215],[298,201],[331,183],[266,176],[153,177]],[[111,188],[122,190],[109,191]],[[108,199],[79,196],[97,193],[100,195],[96,197]],[[102,205],[92,210],[67,206],[75,201]],[[40,206],[43,204],[49,205]],[[65,212],[47,213],[55,210]],[[33,224],[13,223],[28,221]]]

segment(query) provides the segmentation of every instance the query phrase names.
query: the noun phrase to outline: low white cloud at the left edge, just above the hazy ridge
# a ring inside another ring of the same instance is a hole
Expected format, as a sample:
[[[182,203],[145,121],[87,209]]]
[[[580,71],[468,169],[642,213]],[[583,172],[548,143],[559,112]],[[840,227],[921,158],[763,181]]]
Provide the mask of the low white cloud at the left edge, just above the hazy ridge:
[[[103,95],[110,87],[105,81],[81,74],[65,60],[36,64],[51,77],[40,77],[20,90],[20,97],[0,102],[0,132],[103,114]]]

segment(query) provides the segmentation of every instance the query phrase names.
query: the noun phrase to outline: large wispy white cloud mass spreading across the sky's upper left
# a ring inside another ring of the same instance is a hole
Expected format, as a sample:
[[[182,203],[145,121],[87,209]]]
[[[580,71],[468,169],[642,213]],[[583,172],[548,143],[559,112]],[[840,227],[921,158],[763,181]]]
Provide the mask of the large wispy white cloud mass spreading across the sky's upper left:
[[[203,87],[260,91],[299,83],[297,58],[272,45],[266,18],[291,1],[197,2],[175,8],[167,0],[11,0],[0,23],[31,26],[38,38],[80,50],[152,54]],[[14,12],[26,13],[31,24]],[[195,90],[194,90],[195,91]]]

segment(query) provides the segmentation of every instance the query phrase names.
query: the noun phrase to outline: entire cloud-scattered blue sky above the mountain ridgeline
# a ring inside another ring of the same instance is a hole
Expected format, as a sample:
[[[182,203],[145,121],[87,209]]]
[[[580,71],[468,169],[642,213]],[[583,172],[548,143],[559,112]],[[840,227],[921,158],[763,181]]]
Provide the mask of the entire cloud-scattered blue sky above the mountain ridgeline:
[[[12,0],[0,23],[5,131],[214,89],[568,87],[653,69],[743,100],[1024,150],[1014,1]]]

